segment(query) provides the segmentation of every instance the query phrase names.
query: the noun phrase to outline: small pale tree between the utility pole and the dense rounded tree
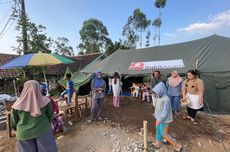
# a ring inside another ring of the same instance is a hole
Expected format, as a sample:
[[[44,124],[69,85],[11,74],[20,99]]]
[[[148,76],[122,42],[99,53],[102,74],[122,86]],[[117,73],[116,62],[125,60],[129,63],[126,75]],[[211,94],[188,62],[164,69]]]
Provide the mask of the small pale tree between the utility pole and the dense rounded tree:
[[[56,54],[64,55],[64,56],[72,56],[74,55],[73,48],[69,45],[69,40],[65,37],[59,37],[55,41],[55,49],[54,52]]]

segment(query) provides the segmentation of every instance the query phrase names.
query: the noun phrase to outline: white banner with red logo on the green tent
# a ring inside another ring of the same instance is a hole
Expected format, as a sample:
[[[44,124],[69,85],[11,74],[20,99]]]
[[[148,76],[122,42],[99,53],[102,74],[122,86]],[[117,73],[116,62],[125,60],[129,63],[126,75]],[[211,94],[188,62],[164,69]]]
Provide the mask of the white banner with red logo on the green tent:
[[[129,66],[129,70],[174,69],[183,67],[185,67],[183,60],[176,59],[150,62],[132,62]]]

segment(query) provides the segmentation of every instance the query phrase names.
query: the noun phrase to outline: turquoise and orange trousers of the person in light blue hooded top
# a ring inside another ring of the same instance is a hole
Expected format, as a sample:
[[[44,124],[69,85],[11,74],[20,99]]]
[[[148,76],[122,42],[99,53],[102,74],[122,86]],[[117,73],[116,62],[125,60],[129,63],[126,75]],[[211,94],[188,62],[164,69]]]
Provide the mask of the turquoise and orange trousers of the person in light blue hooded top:
[[[158,126],[156,126],[156,141],[161,142],[162,139],[165,138],[171,144],[174,144],[176,142],[176,139],[168,134],[168,127],[169,124],[165,123],[160,123]]]

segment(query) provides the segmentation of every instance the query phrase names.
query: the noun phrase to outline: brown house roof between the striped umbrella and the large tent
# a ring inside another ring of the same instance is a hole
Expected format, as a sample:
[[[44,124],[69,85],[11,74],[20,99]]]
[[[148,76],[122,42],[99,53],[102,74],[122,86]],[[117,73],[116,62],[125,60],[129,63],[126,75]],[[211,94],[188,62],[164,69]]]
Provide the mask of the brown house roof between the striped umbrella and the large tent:
[[[69,69],[72,72],[81,70],[101,55],[102,55],[101,53],[93,53],[93,54],[72,56],[70,57],[70,59],[74,60],[75,61],[74,63],[49,66],[46,69],[46,74],[47,75],[63,75],[67,67],[69,67]]]

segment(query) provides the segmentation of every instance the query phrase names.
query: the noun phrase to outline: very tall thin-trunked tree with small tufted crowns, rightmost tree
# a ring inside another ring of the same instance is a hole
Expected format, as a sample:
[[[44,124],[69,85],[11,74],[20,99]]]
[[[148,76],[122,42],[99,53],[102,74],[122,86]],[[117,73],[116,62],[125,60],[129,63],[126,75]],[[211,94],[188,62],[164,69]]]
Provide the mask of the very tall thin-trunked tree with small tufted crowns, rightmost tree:
[[[161,9],[166,6],[166,1],[167,0],[155,0],[155,3],[154,3],[155,7],[158,8],[158,10],[159,10],[158,18],[156,18],[152,23],[153,26],[158,28],[158,45],[160,45],[160,28],[161,28],[161,24],[162,24]]]

